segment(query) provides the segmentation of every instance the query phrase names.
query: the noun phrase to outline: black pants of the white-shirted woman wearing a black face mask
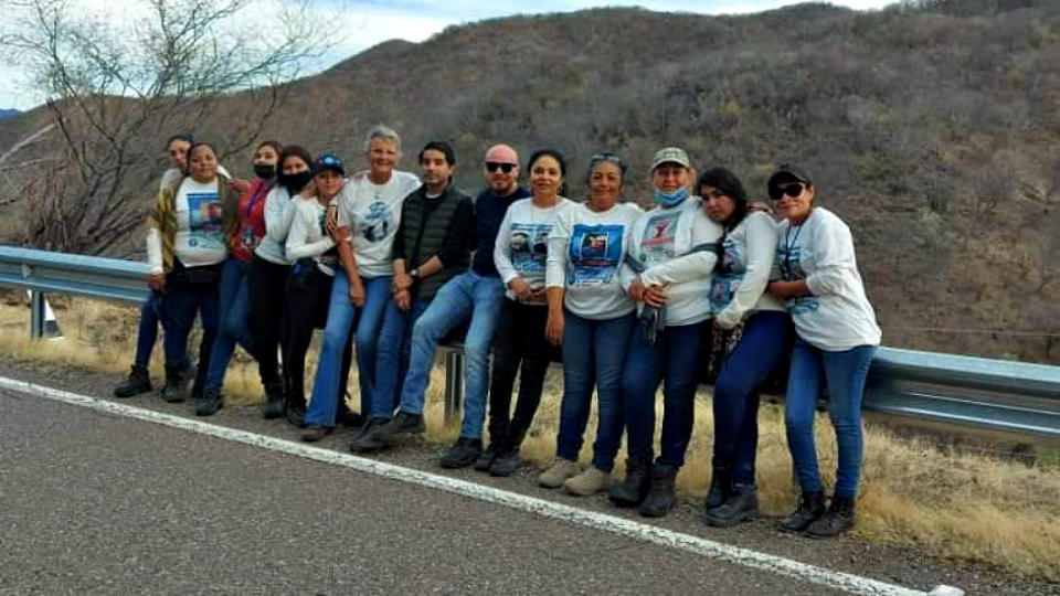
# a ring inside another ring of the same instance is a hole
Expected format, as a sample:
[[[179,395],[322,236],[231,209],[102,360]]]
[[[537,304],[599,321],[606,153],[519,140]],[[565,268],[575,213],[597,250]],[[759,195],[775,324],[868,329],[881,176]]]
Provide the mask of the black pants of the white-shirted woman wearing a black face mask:
[[[254,339],[254,355],[262,384],[268,387],[282,382],[279,376],[279,348],[286,332],[286,286],[290,266],[277,265],[254,255],[247,289],[251,299],[251,337]]]

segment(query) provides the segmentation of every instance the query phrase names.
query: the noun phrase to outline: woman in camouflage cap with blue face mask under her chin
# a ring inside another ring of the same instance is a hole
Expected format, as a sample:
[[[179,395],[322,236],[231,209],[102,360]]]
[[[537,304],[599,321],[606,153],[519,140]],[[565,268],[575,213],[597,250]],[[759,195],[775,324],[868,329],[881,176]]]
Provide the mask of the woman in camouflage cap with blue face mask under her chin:
[[[689,188],[688,155],[677,147],[651,161],[656,207],[632,228],[623,285],[637,302],[622,393],[628,460],[626,480],[608,497],[650,518],[674,508],[674,480],[692,433],[697,358],[711,316],[710,276],[718,259],[719,224],[707,217]],[[662,382],[662,437],[653,462],[655,395]]]

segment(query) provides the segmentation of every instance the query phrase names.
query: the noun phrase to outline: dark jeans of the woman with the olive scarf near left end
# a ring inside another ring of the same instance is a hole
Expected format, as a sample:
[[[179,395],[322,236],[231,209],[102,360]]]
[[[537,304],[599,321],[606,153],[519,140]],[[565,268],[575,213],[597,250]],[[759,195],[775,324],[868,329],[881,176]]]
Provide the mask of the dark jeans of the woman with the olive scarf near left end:
[[[218,285],[170,284],[167,278],[165,310],[167,327],[162,345],[167,364],[188,364],[188,334],[195,322],[195,313],[201,318],[202,343],[199,345],[195,376],[195,382],[201,384],[206,376],[210,350],[218,336]]]

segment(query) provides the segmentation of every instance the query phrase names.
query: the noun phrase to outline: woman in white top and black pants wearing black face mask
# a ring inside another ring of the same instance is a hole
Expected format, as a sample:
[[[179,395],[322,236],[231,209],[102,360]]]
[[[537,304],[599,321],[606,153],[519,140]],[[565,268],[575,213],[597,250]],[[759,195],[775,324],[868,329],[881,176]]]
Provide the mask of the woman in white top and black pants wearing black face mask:
[[[265,387],[266,418],[275,418],[284,412],[285,391],[277,359],[284,323],[284,317],[277,313],[286,312],[284,297],[290,272],[284,244],[295,214],[295,204],[290,199],[312,180],[310,163],[312,156],[305,147],[289,145],[280,151],[275,164],[276,184],[265,199],[265,236],[254,249],[251,262],[251,337],[257,347],[255,356]],[[255,172],[259,168],[261,173],[265,173],[267,164],[255,163]]]

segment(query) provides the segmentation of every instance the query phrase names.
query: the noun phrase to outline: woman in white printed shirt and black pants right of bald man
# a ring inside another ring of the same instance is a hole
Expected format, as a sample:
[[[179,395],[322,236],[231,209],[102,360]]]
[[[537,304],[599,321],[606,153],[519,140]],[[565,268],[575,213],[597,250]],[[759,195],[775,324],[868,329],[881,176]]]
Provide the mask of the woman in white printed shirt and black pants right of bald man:
[[[489,168],[490,162],[486,166]],[[475,466],[489,470],[491,476],[511,476],[522,465],[519,447],[541,403],[549,363],[559,356],[559,350],[544,337],[549,313],[544,269],[555,214],[574,203],[563,196],[566,162],[559,151],[534,151],[527,162],[527,171],[532,195],[508,207],[494,245],[494,263],[508,291],[494,339],[490,449]],[[519,400],[515,414],[510,415],[516,373],[519,373]]]

